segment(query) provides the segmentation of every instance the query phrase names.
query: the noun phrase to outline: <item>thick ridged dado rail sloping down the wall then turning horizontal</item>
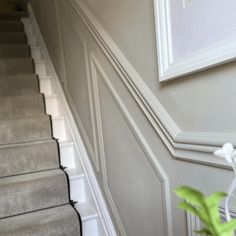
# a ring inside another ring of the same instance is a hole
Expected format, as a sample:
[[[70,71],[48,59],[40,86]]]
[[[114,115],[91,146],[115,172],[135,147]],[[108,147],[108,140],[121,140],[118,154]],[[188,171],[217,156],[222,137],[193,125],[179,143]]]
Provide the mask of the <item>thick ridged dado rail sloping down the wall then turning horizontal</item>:
[[[226,142],[231,142],[236,146],[236,134],[186,132],[181,130],[85,3],[82,0],[70,0],[70,3],[142,109],[154,130],[171,152],[173,158],[215,167],[230,168],[223,160],[213,156],[212,153]]]

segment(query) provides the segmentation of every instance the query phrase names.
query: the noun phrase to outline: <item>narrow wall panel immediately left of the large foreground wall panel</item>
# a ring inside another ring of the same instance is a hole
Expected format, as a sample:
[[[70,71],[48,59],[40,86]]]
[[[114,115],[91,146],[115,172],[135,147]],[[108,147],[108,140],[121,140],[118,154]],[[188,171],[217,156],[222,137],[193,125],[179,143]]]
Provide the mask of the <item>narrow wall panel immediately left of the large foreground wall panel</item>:
[[[73,112],[77,117],[76,121],[79,123],[94,165],[99,171],[86,42],[76,33],[73,26],[66,23],[66,21],[62,21],[62,34],[64,36],[65,68],[67,73],[66,94],[71,101],[71,106],[74,106]],[[69,38],[67,38],[68,35],[70,36]]]

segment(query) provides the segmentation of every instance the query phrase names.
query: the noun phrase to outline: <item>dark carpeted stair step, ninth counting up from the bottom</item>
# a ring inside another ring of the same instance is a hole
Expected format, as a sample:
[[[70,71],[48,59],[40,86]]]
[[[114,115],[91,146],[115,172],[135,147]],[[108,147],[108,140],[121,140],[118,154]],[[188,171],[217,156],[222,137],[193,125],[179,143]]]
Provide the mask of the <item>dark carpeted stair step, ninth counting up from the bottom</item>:
[[[1,32],[1,44],[26,44],[27,37],[24,32]]]

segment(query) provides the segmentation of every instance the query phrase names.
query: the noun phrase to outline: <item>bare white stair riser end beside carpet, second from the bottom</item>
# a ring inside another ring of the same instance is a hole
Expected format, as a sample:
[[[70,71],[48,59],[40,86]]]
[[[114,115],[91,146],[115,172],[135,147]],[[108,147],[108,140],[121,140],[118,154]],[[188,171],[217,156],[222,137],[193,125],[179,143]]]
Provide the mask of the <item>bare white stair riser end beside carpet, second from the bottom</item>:
[[[75,202],[85,202],[86,191],[85,191],[85,181],[83,177],[69,178],[70,179],[70,196],[71,199]]]

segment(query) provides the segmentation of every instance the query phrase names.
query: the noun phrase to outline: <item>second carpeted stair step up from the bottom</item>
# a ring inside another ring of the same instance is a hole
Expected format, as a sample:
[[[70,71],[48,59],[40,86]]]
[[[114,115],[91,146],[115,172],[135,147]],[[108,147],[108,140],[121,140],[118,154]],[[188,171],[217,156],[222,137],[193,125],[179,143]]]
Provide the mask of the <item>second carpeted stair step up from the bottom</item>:
[[[67,177],[61,169],[0,178],[0,218],[69,202]]]

